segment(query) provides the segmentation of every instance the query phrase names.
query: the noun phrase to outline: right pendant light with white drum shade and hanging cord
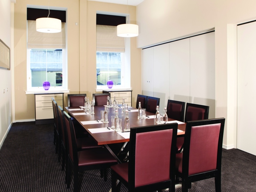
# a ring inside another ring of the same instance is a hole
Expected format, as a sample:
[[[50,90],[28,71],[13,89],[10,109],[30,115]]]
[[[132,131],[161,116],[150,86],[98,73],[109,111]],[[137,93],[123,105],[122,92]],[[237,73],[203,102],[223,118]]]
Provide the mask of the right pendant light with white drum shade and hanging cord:
[[[117,25],[117,36],[135,37],[139,35],[139,26],[136,24],[127,24],[128,20],[128,0],[127,0],[127,17],[126,24]]]

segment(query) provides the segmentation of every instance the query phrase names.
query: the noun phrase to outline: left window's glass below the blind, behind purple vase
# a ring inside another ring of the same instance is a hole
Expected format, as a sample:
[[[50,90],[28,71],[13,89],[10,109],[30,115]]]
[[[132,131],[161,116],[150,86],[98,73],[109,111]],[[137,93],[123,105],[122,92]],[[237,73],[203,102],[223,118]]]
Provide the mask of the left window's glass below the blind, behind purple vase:
[[[63,87],[64,49],[28,49],[28,87],[40,88],[44,81]]]

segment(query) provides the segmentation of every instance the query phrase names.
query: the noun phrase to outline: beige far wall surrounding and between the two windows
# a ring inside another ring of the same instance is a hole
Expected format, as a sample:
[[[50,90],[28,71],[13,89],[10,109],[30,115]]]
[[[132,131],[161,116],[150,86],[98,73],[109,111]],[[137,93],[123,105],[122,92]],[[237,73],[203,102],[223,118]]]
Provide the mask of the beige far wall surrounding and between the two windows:
[[[34,95],[26,95],[26,12],[27,5],[48,5],[48,0],[16,0],[14,15],[15,50],[15,112],[16,120],[35,119]],[[127,6],[107,4],[87,0],[55,0],[50,7],[67,10],[67,51],[68,89],[70,93],[87,93],[92,99],[96,92],[96,11],[127,13]],[[129,6],[131,20],[136,20],[136,7]],[[75,23],[78,23],[76,25]],[[131,40],[131,76],[136,77],[131,87],[133,105],[137,94],[141,93],[140,49],[136,48],[136,38]],[[136,69],[136,70],[133,70]],[[67,94],[64,95],[67,106]]]

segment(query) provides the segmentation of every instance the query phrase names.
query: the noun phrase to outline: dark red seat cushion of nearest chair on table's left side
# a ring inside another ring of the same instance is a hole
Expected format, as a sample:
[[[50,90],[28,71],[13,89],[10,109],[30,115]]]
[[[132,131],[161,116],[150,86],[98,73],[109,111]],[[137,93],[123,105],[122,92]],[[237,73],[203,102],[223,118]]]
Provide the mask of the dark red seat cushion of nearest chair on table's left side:
[[[78,166],[96,165],[96,164],[115,164],[116,159],[106,148],[93,148],[77,153]]]

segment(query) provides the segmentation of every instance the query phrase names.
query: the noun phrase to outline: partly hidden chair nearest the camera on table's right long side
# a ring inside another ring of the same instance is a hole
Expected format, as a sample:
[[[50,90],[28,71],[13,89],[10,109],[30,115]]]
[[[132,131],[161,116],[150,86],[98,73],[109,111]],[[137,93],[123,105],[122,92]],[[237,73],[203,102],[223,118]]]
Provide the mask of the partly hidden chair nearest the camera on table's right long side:
[[[192,120],[204,120],[208,119],[209,106],[187,103],[185,110],[185,122]],[[177,138],[177,152],[181,152],[183,148],[184,137]]]

